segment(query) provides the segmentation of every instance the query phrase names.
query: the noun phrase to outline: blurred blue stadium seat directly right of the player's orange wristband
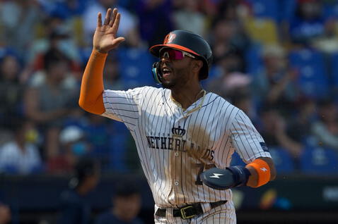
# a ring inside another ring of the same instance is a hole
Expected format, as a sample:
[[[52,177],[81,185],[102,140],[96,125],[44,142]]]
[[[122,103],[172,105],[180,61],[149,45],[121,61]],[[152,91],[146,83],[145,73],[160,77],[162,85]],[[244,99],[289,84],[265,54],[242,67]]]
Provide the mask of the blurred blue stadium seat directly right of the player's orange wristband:
[[[277,173],[292,173],[295,170],[293,159],[286,149],[272,147],[269,149]]]

